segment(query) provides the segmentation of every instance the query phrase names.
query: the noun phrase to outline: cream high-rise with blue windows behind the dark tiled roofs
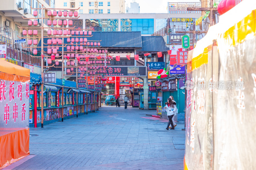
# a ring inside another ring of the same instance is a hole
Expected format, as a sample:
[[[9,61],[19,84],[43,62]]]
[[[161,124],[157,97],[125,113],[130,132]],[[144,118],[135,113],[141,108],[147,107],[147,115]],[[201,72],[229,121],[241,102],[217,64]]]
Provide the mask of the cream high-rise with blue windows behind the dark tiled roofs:
[[[55,0],[56,8],[80,8],[80,14],[125,13],[124,0]]]

